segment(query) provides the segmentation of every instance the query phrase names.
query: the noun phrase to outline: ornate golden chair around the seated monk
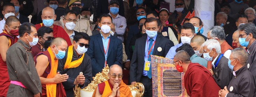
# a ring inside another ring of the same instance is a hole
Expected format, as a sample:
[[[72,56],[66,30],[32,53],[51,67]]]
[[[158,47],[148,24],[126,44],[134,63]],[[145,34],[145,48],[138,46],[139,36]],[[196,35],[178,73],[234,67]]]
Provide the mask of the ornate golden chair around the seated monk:
[[[78,85],[75,86],[74,92],[75,97],[92,97],[94,90],[97,87],[97,84],[107,81],[109,78],[107,76],[109,72],[109,66],[106,66],[102,69],[102,72],[96,74],[95,77],[92,77],[92,82],[88,84],[87,87],[81,89]],[[132,92],[133,97],[142,97],[144,94],[144,86],[142,83],[135,83],[134,85],[128,85]]]

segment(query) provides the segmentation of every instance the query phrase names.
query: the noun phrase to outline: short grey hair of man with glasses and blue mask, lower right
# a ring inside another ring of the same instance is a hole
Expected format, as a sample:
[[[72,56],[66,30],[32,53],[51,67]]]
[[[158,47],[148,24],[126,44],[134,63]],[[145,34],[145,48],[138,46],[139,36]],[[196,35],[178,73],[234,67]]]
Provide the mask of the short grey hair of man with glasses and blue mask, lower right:
[[[232,57],[237,58],[241,65],[245,66],[248,60],[248,53],[243,48],[235,48],[231,51]]]

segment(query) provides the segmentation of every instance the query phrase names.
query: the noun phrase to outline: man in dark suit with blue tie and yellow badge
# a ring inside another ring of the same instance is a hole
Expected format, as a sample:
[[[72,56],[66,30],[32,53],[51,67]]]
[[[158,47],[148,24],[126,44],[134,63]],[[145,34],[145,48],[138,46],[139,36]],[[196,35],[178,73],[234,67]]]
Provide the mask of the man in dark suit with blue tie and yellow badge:
[[[144,97],[152,97],[152,72],[150,55],[166,56],[173,42],[157,35],[160,29],[156,18],[145,21],[146,37],[138,38],[135,43],[130,66],[131,84],[140,82],[145,86]]]

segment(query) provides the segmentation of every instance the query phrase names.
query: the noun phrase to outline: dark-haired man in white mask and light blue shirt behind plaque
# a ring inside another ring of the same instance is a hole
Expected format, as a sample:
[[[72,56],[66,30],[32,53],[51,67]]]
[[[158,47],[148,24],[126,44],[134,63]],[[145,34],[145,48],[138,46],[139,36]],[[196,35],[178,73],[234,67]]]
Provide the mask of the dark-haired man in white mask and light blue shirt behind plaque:
[[[183,43],[190,44],[191,38],[193,38],[194,36],[196,36],[194,25],[192,25],[192,23],[185,23],[181,28],[181,43],[171,47],[166,57],[169,59],[173,59],[174,55],[176,54],[175,50],[178,47],[181,47]]]

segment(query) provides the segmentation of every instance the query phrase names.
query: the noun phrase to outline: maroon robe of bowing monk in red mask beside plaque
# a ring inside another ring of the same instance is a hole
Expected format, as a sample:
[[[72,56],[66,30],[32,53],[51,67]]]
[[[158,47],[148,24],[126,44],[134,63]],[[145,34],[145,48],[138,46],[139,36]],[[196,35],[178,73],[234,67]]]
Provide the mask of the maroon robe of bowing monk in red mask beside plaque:
[[[218,97],[220,87],[211,72],[198,63],[190,63],[184,75],[186,92],[190,97]]]

